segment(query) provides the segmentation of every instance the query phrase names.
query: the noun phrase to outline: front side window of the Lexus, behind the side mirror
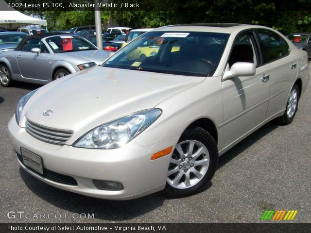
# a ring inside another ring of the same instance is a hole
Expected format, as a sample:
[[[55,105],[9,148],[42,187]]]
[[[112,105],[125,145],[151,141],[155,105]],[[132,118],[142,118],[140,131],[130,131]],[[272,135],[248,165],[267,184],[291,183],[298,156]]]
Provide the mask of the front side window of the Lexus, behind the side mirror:
[[[250,33],[239,35],[233,44],[228,61],[229,67],[236,62],[250,62],[257,66],[256,52]]]

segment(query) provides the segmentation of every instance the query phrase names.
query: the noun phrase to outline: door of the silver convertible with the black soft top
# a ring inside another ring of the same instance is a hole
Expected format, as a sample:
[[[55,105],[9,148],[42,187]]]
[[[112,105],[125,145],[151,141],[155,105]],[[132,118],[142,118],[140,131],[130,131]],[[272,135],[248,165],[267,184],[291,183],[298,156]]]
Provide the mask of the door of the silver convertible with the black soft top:
[[[39,48],[40,53],[32,52]],[[38,39],[29,39],[17,53],[17,65],[23,78],[46,80],[51,77],[51,64],[49,64],[49,50]]]

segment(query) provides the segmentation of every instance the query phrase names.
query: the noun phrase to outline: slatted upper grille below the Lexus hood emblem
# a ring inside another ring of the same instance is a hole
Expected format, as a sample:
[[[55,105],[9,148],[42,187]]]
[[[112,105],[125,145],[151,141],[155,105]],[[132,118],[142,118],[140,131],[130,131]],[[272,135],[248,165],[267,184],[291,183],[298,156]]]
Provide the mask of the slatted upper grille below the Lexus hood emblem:
[[[38,125],[30,120],[26,120],[25,130],[35,138],[52,144],[65,145],[72,136],[73,131],[59,130]]]

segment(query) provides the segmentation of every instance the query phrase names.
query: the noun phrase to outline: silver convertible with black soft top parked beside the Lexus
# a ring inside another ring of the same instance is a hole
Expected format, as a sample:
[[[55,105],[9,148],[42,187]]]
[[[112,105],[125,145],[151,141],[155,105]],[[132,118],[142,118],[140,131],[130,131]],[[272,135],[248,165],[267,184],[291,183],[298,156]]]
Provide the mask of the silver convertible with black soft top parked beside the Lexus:
[[[102,64],[108,52],[78,35],[46,33],[25,37],[15,50],[0,54],[0,83],[46,84]]]

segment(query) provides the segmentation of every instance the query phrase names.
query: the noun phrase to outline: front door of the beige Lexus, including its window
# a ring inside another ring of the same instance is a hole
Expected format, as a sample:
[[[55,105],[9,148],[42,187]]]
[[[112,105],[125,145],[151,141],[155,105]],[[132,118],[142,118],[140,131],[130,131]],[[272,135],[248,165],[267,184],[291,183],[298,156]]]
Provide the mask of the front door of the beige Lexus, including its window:
[[[228,59],[227,69],[236,62],[256,65],[256,74],[222,81],[224,122],[223,150],[246,136],[266,119],[270,80],[269,65],[260,62],[253,31],[237,36]]]

